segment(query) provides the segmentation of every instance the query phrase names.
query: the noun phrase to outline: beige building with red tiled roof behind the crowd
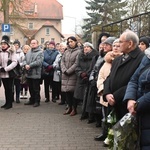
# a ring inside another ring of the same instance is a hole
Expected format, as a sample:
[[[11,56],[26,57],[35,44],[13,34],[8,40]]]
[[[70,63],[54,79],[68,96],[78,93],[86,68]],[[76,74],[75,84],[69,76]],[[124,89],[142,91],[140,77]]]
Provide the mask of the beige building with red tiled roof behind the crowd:
[[[57,0],[31,0],[23,16],[10,15],[13,20],[10,39],[18,39],[22,45],[29,44],[32,39],[37,39],[41,45],[51,40],[61,42],[64,38],[61,34],[62,8]]]

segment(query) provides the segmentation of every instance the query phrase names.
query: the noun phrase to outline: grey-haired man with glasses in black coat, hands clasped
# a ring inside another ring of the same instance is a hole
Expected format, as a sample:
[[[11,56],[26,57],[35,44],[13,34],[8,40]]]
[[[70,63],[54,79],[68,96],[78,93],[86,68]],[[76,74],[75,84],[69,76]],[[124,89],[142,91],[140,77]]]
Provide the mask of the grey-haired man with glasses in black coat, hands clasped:
[[[127,84],[139,66],[144,53],[138,48],[139,38],[131,30],[126,30],[119,38],[123,55],[117,57],[112,64],[111,73],[104,83],[103,96],[109,106],[116,111],[117,119],[121,119],[127,112],[122,101]]]

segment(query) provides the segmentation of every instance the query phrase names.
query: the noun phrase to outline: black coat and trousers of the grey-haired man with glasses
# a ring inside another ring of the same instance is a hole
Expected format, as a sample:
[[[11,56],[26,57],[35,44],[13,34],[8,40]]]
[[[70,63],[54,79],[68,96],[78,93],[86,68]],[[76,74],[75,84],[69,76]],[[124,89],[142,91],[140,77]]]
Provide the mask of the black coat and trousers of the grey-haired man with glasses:
[[[144,53],[137,47],[129,53],[129,57],[122,61],[122,56],[114,59],[110,75],[104,82],[104,100],[106,101],[107,94],[113,94],[115,98],[115,111],[118,119],[121,119],[126,113],[126,106],[123,106],[123,98],[130,81],[131,76],[139,66]]]

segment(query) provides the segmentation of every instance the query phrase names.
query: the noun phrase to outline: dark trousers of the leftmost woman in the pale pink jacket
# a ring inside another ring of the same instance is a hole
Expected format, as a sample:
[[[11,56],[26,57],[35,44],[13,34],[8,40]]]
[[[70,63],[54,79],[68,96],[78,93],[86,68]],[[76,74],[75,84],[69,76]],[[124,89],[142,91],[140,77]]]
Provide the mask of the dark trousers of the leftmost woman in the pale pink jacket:
[[[13,78],[2,78],[2,83],[5,91],[6,106],[12,106],[13,101]]]

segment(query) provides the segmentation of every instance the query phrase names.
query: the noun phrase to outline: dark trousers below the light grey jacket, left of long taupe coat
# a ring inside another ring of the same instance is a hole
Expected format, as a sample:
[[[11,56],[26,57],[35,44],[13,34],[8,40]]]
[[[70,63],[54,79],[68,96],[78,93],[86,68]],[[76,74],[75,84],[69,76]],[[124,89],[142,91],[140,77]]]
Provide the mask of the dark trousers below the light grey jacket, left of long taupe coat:
[[[54,98],[59,98],[59,95],[61,94],[61,82],[53,81],[53,93]]]

